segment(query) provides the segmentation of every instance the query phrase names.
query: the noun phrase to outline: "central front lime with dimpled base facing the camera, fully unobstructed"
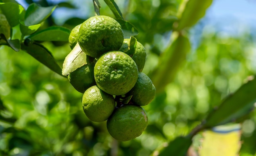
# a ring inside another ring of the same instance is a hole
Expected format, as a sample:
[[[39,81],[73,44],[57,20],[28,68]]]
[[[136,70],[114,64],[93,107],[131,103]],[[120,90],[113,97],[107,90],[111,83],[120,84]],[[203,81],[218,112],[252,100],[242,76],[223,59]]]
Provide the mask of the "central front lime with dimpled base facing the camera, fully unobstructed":
[[[100,89],[111,95],[124,95],[138,78],[137,65],[121,51],[110,51],[99,58],[94,67],[94,79]]]

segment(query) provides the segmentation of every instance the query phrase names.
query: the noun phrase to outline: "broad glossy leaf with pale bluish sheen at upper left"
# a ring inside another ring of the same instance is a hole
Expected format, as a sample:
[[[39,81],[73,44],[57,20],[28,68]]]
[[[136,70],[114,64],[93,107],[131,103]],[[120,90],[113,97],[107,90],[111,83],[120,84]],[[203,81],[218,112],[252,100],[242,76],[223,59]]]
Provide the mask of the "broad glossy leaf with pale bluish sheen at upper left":
[[[56,6],[40,7],[35,3],[32,3],[25,12],[25,25],[37,25],[46,20],[54,11]]]

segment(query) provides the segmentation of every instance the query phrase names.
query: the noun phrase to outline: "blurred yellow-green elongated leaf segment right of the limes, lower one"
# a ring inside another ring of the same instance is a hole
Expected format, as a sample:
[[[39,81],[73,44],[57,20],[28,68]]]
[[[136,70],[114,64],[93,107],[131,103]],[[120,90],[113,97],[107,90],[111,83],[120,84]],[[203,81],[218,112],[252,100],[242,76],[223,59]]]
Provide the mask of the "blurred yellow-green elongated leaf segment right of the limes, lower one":
[[[186,54],[190,51],[189,38],[181,33],[173,33],[173,38],[172,44],[159,57],[158,66],[149,74],[158,93],[173,80],[179,67],[186,60]]]

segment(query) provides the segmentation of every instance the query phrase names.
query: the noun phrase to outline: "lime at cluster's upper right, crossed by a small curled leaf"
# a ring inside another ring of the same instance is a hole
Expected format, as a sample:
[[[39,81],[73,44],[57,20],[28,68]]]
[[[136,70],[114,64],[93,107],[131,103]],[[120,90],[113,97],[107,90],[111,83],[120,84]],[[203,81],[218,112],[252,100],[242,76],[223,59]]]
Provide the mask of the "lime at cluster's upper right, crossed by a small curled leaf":
[[[125,38],[123,45],[121,46],[119,51],[123,51],[123,52],[126,51],[126,49],[128,49],[129,41],[130,41],[130,39]],[[137,41],[135,53],[131,57],[136,62],[138,71],[141,72],[143,70],[145,62],[146,62],[146,50],[140,42]]]

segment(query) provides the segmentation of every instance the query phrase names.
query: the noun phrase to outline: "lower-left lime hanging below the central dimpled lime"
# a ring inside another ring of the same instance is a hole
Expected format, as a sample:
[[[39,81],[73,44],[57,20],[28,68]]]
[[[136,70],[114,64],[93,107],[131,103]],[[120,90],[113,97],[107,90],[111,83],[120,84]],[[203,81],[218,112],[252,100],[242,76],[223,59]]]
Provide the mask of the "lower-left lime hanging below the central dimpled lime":
[[[115,99],[99,89],[97,85],[88,88],[83,94],[82,106],[85,115],[94,122],[108,119],[115,109]]]

